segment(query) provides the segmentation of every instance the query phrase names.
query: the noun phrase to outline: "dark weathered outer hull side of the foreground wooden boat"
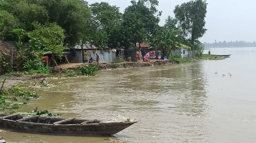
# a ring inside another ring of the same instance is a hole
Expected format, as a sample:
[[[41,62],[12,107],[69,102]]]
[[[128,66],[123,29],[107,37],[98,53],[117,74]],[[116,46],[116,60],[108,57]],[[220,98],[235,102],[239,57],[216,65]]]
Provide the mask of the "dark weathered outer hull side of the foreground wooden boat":
[[[56,135],[113,135],[136,122],[102,124],[42,124],[0,119],[0,127],[21,132]]]

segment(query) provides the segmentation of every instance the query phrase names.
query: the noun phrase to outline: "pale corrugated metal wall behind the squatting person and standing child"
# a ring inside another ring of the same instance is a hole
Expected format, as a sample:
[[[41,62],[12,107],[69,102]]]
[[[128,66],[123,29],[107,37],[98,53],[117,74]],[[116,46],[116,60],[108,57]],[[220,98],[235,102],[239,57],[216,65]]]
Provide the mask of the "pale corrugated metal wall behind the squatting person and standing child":
[[[103,50],[103,51],[87,51],[88,61],[91,57],[96,60],[96,53],[99,54],[100,62],[99,63],[111,63],[112,59],[115,58],[115,52],[112,50]]]

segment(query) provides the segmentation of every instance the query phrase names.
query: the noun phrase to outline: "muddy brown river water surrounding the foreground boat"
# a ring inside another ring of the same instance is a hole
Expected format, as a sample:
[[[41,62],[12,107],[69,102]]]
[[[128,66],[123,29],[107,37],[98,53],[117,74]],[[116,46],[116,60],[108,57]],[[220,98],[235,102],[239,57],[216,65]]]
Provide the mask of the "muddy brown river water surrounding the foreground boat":
[[[47,109],[63,117],[139,121],[113,136],[55,136],[1,130],[8,143],[256,142],[256,48],[215,48],[218,61],[99,72],[54,79],[41,99],[18,111]],[[217,74],[215,74],[217,72]],[[222,76],[231,73],[232,76]]]

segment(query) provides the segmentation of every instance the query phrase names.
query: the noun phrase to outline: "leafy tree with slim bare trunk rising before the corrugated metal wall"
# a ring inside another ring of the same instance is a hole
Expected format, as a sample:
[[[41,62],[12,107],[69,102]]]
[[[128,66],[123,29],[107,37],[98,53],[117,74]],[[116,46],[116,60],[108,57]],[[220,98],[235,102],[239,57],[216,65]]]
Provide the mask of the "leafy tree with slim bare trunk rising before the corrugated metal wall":
[[[84,26],[84,30],[82,31],[82,53],[84,53],[83,45],[85,42],[105,49],[109,42],[109,33],[119,24],[122,16],[119,12],[119,7],[111,6],[107,2],[95,2],[91,4],[90,11],[90,22]]]

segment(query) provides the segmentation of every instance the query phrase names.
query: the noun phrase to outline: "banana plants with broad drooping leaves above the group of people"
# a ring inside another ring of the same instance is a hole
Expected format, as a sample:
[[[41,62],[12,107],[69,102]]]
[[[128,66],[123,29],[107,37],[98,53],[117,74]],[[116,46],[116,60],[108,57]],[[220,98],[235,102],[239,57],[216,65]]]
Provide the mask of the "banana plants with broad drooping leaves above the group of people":
[[[164,56],[169,56],[172,50],[178,48],[183,40],[182,32],[177,28],[157,30],[151,39],[150,46],[161,50]]]

